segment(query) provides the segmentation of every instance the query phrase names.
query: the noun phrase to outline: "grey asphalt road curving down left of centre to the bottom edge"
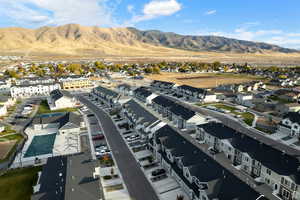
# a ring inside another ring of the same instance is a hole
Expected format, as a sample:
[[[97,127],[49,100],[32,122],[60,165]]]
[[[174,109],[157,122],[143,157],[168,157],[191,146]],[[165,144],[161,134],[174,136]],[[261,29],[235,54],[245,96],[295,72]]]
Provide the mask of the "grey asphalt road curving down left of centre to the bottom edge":
[[[133,200],[158,200],[151,184],[131,154],[112,119],[100,108],[82,96],[79,100],[93,111],[102,124],[107,142]]]

